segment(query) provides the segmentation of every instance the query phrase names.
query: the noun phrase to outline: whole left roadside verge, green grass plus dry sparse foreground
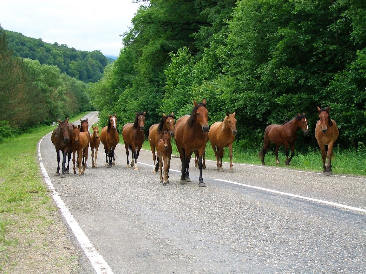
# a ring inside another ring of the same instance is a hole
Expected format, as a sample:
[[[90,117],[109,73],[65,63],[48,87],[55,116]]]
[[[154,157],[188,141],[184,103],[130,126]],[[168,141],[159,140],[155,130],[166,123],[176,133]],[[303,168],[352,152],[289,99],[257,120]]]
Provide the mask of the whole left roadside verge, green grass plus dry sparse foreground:
[[[58,221],[59,212],[46,189],[37,158],[40,138],[54,128],[42,126],[0,144],[0,272],[26,273],[40,253],[47,254],[43,260],[49,259],[49,266],[61,272],[63,267],[71,267],[67,271],[73,272],[74,256],[65,257],[57,239],[65,246],[70,243],[66,237],[59,239],[65,235],[52,239],[50,233],[52,229],[67,232]]]

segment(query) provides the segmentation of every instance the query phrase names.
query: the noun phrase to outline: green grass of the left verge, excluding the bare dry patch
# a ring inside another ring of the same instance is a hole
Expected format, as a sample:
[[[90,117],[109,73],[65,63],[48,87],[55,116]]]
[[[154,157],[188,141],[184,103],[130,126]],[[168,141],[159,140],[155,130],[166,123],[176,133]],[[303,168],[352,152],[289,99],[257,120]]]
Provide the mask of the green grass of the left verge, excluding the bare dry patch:
[[[47,226],[49,221],[38,210],[41,206],[57,210],[47,193],[37,159],[40,138],[54,128],[42,126],[0,144],[0,271],[9,256],[7,247],[18,244],[16,237],[10,236],[14,235],[12,232],[21,228],[21,231],[32,233],[27,227],[35,219]]]

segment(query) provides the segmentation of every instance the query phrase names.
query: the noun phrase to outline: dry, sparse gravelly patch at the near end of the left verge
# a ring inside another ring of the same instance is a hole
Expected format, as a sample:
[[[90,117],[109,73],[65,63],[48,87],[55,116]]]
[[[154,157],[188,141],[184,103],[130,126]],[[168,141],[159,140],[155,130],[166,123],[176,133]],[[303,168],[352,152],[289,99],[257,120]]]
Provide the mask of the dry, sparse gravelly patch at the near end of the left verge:
[[[11,220],[6,227],[8,244],[0,249],[5,258],[0,268],[3,273],[86,273],[81,262],[85,255],[72,240],[73,235],[50,199],[37,206],[31,218],[26,213],[1,214],[3,220]]]

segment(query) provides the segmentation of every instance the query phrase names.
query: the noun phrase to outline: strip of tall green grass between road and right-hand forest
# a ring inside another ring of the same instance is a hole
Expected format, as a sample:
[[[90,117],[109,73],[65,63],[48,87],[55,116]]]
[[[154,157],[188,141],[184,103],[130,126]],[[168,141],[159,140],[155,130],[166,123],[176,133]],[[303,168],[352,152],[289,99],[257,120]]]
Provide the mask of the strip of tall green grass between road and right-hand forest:
[[[174,140],[172,140],[173,155],[179,155]],[[150,150],[149,141],[145,141],[143,148]],[[238,146],[236,142],[233,144],[233,165],[235,163],[261,165],[259,159],[259,151],[244,150]],[[358,152],[354,150],[341,151],[339,147],[333,149],[334,158],[332,159],[332,171],[334,174],[362,175],[366,176],[366,149],[360,148]],[[216,160],[213,149],[208,142],[206,145],[206,160]],[[283,147],[279,151],[280,165],[276,164],[276,157],[273,150],[269,150],[265,155],[265,163],[268,166],[286,167],[303,171],[323,172],[323,163],[321,159],[320,149],[309,150],[306,154],[298,153],[295,150],[295,156],[292,158],[289,166],[285,166],[286,160]],[[229,148],[224,148],[223,161],[230,162]],[[225,168],[225,166],[224,166]],[[227,167],[228,168],[228,165]]]

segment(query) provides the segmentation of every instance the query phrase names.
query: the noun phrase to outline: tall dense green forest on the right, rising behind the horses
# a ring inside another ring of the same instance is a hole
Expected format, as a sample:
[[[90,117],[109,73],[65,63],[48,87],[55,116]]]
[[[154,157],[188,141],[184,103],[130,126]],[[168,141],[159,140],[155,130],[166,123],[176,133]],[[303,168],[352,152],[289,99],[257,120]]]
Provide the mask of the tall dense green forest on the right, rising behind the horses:
[[[267,125],[305,112],[305,149],[316,146],[317,106],[330,106],[340,147],[365,144],[366,1],[136,2],[119,57],[90,86],[101,123],[116,113],[121,130],[146,111],[148,130],[205,98],[210,123],[236,113],[243,149],[258,149]]]

